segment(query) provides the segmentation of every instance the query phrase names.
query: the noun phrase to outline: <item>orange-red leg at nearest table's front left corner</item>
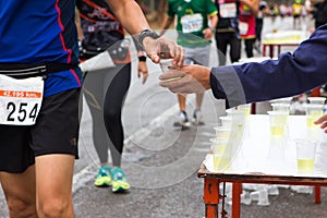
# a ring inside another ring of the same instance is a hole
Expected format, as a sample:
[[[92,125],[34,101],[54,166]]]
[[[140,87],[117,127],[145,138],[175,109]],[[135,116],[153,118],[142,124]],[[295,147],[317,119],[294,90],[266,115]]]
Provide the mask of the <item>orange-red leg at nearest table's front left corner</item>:
[[[218,218],[219,180],[205,178],[203,201],[206,207],[205,217]]]

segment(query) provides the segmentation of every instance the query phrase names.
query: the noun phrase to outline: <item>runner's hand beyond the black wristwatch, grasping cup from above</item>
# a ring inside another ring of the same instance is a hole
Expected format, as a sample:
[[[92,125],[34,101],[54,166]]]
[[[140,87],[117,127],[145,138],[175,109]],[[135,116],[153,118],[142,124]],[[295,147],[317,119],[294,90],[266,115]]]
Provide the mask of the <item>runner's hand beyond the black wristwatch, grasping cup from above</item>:
[[[177,66],[182,66],[184,63],[184,49],[166,36],[157,39],[145,37],[143,48],[155,63],[159,63],[160,59],[172,59],[172,64]]]

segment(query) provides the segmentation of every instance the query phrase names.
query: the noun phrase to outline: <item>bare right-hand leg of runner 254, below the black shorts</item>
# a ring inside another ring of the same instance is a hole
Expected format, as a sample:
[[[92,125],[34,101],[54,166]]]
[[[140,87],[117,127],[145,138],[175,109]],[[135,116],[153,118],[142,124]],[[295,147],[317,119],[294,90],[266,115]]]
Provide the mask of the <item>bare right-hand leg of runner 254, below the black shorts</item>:
[[[72,179],[75,156],[43,155],[35,158],[39,217],[74,217]]]

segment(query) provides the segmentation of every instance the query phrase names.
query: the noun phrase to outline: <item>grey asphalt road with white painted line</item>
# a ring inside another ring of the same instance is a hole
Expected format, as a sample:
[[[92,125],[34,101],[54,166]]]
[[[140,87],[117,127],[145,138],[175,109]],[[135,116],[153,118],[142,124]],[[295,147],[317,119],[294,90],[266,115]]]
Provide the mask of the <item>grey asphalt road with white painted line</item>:
[[[292,20],[265,21],[264,33],[272,28],[291,28]],[[216,50],[213,45],[211,64]],[[243,55],[244,56],[244,55]],[[259,53],[256,53],[259,56]],[[80,160],[76,160],[73,201],[76,217],[81,218],[202,218],[204,217],[203,180],[196,171],[209,150],[213,126],[225,113],[225,102],[206,93],[203,105],[205,125],[186,131],[173,128],[178,119],[175,95],[158,85],[160,70],[148,62],[150,76],[145,85],[133,72],[131,89],[123,109],[125,148],[123,168],[132,189],[130,193],[113,194],[110,189],[93,185],[98,158],[94,150],[90,117],[84,110]],[[135,69],[135,68],[134,68]],[[187,112],[194,110],[194,95],[187,98]],[[244,218],[324,218],[327,217],[327,190],[323,189],[322,204],[314,204],[312,193],[296,193],[290,186],[279,186],[278,195],[269,195],[269,206],[257,202],[242,204]],[[230,205],[226,205],[230,210]],[[229,213],[230,216],[230,213]],[[8,217],[3,194],[0,193],[0,218]]]

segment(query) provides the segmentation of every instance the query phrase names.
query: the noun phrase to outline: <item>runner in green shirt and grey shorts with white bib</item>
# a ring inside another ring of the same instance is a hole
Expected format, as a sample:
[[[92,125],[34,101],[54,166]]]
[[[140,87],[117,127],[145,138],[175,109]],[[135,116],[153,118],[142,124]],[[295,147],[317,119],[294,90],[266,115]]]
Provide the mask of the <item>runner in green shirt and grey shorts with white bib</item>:
[[[210,43],[217,25],[217,8],[211,0],[169,0],[168,17],[162,23],[161,33],[174,22],[179,32],[178,44],[185,49],[185,64],[196,63],[209,65]],[[209,17],[209,21],[208,21]],[[210,22],[210,26],[209,26]],[[196,94],[195,110],[193,111],[194,124],[203,124],[201,107],[204,94]],[[180,106],[180,120],[175,126],[187,129],[191,123],[186,112],[186,96],[178,95]]]

